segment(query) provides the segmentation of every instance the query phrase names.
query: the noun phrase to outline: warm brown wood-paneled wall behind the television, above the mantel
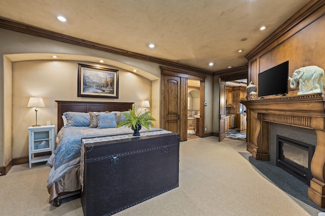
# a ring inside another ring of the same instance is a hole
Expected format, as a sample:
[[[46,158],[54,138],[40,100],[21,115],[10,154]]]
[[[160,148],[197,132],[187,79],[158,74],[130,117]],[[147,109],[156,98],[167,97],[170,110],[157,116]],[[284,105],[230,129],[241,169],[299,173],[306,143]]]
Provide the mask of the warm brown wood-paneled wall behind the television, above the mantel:
[[[258,73],[289,60],[289,76],[309,65],[325,69],[325,0],[310,1],[286,23],[280,26],[245,57],[248,59],[248,82],[257,85]],[[276,83],[274,83],[276,84]],[[288,83],[289,85],[289,83]],[[288,96],[296,95],[299,88],[290,89]],[[247,113],[247,149],[253,144],[253,116]]]

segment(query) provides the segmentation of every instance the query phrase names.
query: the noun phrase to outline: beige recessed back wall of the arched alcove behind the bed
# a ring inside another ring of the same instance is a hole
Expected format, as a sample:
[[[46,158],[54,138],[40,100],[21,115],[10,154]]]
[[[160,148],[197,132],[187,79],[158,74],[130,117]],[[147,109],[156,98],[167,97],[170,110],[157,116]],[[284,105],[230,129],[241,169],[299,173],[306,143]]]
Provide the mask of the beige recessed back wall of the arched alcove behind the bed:
[[[28,155],[26,128],[35,124],[36,120],[34,108],[27,107],[29,97],[42,97],[44,100],[45,107],[39,108],[38,111],[38,124],[41,125],[46,125],[46,121],[57,125],[55,100],[103,100],[77,97],[78,63],[94,65],[87,62],[49,60],[13,63],[12,133],[15,135],[12,139],[13,158]],[[107,65],[98,66],[119,69]],[[119,69],[119,99],[105,101],[134,102],[139,108],[142,100],[151,102],[151,81]]]

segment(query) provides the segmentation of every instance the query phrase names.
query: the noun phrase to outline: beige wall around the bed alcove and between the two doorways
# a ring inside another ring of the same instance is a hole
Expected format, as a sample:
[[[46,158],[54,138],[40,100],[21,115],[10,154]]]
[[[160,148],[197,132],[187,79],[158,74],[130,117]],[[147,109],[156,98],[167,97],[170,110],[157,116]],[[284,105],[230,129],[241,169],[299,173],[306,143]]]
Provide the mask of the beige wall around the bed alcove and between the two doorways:
[[[67,60],[72,61],[44,60],[52,54],[64,55],[68,57]],[[27,108],[29,97],[44,98],[46,107],[40,108],[38,112],[40,124],[46,124],[48,120],[56,124],[55,100],[100,101],[93,98],[77,98],[78,63],[98,65],[100,58],[106,63],[101,66],[119,69],[119,99],[111,101],[135,102],[141,105],[142,100],[149,100],[152,115],[157,119],[154,126],[160,126],[159,66],[164,65],[2,28],[0,56],[3,57],[0,58],[0,63],[3,63],[0,64],[3,65],[0,66],[0,119],[3,119],[0,121],[0,167],[6,165],[11,158],[28,155],[27,127],[35,123],[34,109]],[[133,68],[137,69],[139,75],[129,72]],[[136,91],[131,88],[135,82],[138,86]],[[212,89],[213,76],[207,76],[205,133],[212,133]]]

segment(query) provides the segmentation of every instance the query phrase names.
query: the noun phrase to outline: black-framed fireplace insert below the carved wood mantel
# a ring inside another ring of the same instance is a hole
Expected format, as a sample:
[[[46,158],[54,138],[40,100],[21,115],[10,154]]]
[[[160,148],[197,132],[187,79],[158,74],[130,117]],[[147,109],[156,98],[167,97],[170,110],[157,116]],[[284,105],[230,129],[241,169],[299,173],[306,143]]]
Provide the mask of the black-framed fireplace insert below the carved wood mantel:
[[[310,186],[310,164],[315,146],[279,135],[276,143],[276,165]]]

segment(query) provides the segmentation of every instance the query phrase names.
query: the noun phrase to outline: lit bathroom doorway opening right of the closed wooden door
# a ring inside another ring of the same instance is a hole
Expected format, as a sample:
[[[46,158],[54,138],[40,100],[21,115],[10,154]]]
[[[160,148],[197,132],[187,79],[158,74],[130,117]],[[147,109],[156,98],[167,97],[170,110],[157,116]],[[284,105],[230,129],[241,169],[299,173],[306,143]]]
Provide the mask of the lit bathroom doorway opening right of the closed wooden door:
[[[200,137],[200,80],[187,81],[187,140],[190,140]]]

